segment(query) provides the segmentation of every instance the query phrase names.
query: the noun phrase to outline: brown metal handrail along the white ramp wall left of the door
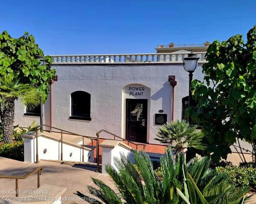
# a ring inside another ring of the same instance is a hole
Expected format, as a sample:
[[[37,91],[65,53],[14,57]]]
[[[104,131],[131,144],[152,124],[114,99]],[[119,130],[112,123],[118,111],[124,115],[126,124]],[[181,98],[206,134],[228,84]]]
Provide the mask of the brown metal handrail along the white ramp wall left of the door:
[[[76,134],[76,133],[72,133],[72,132],[69,132],[69,131],[66,131],[66,130],[62,130],[62,129],[59,129],[58,127],[53,127],[53,126],[50,126],[50,125],[47,125],[47,124],[43,124],[42,126],[46,126],[46,127],[50,127],[50,129],[55,129],[55,130],[58,130],[60,131],[60,161],[63,161],[63,137],[62,137],[62,134],[63,133],[68,133],[68,134],[72,134],[72,135],[75,135],[75,136],[80,136],[82,137],[82,144],[81,144],[81,149],[82,149],[82,162],[84,162],[84,141],[83,141],[83,138],[88,138],[92,141],[92,144],[93,144],[93,140],[96,140],[97,143],[98,143],[98,138],[95,138],[95,137],[89,137],[89,136],[84,136],[84,135],[79,135],[79,134]],[[36,130],[36,163],[39,163],[39,158],[38,158],[38,130],[41,128],[41,126],[36,126],[35,127],[35,130]],[[44,133],[44,128],[41,129],[42,130],[42,133]],[[59,133],[59,132],[58,132]],[[71,144],[69,142],[65,142],[66,144]],[[97,146],[98,148],[98,146]],[[96,161],[98,161],[98,156],[96,156]]]

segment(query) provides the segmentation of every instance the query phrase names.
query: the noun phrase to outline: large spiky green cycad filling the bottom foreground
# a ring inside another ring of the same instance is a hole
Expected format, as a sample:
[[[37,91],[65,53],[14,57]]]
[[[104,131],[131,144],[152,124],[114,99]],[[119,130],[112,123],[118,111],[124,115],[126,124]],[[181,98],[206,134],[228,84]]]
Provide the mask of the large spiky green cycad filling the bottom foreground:
[[[245,195],[250,188],[237,188],[229,183],[227,174],[210,170],[208,157],[193,159],[185,164],[184,155],[179,155],[175,162],[172,152],[167,149],[166,156],[161,158],[163,178],[158,180],[148,154],[135,151],[134,155],[139,173],[124,156],[115,160],[118,170],[111,165],[105,166],[117,189],[113,190],[102,181],[92,178],[97,188],[88,186],[88,192],[99,199],[90,198],[79,191],[75,194],[94,204],[178,204],[185,203],[181,195],[190,192],[189,200],[195,201],[190,203],[202,203],[204,200],[206,202],[203,203],[235,204],[248,199]],[[189,181],[193,182],[192,186],[186,182],[188,176]]]

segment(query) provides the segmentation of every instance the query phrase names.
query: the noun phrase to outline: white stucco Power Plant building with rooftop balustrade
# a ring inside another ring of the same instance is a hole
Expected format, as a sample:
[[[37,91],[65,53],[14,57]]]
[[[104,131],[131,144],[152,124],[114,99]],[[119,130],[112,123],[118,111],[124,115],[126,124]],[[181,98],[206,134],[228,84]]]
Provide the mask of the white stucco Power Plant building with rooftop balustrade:
[[[157,143],[160,124],[172,115],[181,119],[187,106],[183,58],[191,51],[198,55],[194,79],[203,80],[206,49],[161,45],[154,54],[52,56],[57,81],[43,108],[44,124],[86,136],[105,129],[127,140]],[[175,95],[170,75],[177,81]],[[19,101],[15,106],[16,124],[40,123],[39,109],[29,112]]]

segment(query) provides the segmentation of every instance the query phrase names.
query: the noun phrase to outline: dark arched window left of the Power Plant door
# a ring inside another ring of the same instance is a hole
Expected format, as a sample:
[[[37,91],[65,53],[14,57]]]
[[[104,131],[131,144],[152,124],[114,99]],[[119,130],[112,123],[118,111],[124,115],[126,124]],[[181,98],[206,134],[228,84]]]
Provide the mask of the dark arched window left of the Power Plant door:
[[[71,119],[91,120],[91,94],[84,91],[71,93]]]

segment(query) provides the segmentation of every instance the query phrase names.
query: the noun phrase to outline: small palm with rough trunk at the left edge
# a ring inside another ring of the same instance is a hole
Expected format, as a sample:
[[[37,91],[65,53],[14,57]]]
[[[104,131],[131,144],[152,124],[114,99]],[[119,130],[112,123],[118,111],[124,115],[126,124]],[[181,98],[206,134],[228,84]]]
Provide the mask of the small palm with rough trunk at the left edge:
[[[13,73],[5,74],[0,79],[0,103],[3,107],[2,128],[4,143],[12,142],[14,124],[14,101],[20,100],[28,107],[33,108],[40,103],[40,94],[31,84],[23,84],[16,79]]]

